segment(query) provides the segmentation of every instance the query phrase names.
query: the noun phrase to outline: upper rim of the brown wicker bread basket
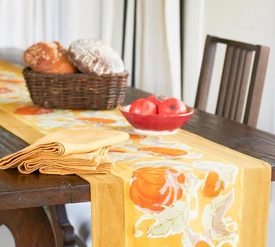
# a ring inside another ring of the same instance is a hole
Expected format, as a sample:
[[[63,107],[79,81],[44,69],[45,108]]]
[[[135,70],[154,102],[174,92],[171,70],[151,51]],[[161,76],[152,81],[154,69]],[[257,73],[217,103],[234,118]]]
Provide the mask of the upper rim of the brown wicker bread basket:
[[[36,73],[38,75],[43,76],[51,76],[51,77],[58,77],[58,78],[83,78],[84,77],[100,77],[100,78],[115,78],[115,77],[127,77],[129,76],[129,71],[124,71],[122,73],[109,73],[109,74],[102,74],[98,75],[97,73],[67,73],[67,74],[56,74],[56,73],[45,73],[40,71],[35,71],[31,67],[25,67],[23,69],[23,73]]]

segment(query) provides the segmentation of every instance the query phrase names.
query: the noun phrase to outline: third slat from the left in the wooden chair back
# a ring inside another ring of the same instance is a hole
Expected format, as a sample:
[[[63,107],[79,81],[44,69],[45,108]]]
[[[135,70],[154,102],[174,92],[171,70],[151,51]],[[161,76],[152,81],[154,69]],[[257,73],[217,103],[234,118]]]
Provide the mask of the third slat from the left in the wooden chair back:
[[[235,83],[234,83],[232,101],[231,101],[231,105],[230,105],[229,118],[231,120],[235,119],[236,105],[237,105],[238,98],[239,98],[241,78],[243,75],[243,69],[244,69],[244,65],[245,65],[245,57],[246,57],[247,52],[248,51],[246,51],[245,49],[241,49],[240,54],[239,54],[239,61],[238,61],[237,70],[236,70],[236,79],[235,79]]]

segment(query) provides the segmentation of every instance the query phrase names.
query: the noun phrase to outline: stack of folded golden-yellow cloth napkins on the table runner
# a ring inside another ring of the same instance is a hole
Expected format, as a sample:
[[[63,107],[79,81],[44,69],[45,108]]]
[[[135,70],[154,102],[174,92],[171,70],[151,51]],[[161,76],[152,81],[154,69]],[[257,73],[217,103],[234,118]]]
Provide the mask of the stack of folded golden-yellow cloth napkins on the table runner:
[[[116,130],[61,130],[0,159],[0,169],[18,167],[23,174],[107,174],[114,169],[108,151],[129,134]]]

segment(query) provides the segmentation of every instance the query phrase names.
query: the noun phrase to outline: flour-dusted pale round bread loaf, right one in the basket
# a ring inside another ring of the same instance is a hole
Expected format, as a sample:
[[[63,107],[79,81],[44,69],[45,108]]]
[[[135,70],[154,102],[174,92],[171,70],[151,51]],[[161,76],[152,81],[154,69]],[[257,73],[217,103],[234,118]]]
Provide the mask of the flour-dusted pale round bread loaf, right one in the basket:
[[[98,75],[124,72],[124,63],[109,45],[89,38],[74,41],[67,53],[69,60],[83,73]]]

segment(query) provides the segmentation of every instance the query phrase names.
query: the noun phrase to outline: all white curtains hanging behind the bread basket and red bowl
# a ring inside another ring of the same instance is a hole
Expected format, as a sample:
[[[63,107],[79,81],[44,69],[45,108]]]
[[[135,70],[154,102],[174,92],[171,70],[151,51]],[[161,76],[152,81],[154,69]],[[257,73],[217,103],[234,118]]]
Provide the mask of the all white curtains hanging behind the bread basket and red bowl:
[[[121,54],[123,10],[124,0],[0,0],[0,47],[26,49],[41,40],[69,47],[79,38],[101,38]],[[124,62],[130,73],[133,10],[128,0]],[[179,1],[137,0],[135,86],[181,97],[179,47]]]

